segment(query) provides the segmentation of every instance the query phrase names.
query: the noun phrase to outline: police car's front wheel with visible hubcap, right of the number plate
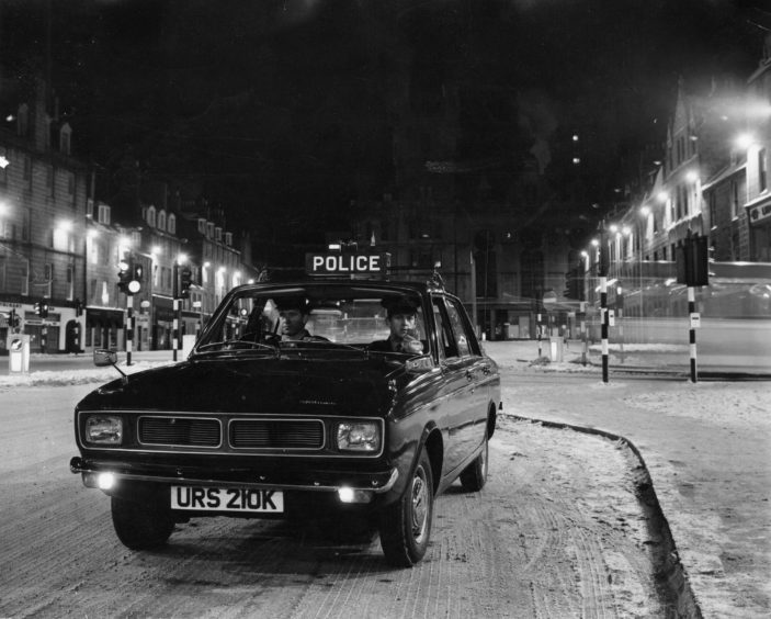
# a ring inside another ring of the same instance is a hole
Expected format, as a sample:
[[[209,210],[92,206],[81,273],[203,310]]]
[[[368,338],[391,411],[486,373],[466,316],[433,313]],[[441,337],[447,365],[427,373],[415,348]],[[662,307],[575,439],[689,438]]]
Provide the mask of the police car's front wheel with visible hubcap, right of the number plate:
[[[386,561],[398,567],[418,563],[429,547],[433,519],[433,477],[423,451],[407,491],[381,515],[381,547]]]

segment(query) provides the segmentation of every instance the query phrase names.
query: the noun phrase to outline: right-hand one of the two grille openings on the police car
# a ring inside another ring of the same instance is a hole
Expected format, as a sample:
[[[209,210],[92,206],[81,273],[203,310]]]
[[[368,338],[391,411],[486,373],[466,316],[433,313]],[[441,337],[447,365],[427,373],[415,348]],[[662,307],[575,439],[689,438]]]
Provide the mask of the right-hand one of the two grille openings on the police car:
[[[321,449],[324,424],[318,419],[236,419],[230,444],[241,449]]]

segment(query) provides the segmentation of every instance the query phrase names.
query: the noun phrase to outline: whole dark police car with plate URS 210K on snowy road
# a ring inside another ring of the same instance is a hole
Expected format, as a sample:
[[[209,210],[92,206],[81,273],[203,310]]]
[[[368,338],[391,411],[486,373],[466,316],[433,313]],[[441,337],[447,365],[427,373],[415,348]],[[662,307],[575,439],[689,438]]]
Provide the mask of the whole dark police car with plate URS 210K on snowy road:
[[[310,337],[282,341],[279,308],[298,297]],[[399,297],[417,307],[422,353],[371,348]],[[409,566],[427,551],[434,497],[458,477],[468,492],[485,485],[499,406],[498,368],[440,285],[249,284],[227,294],[185,361],[77,405],[70,469],[111,496],[132,549],[166,543],[193,517],[359,514],[387,561]]]

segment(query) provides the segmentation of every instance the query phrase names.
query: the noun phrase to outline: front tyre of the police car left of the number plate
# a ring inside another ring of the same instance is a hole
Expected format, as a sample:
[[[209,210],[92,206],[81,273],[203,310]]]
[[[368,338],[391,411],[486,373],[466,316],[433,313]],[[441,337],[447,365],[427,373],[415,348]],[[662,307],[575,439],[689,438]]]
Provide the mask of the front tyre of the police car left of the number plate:
[[[113,527],[117,539],[132,550],[163,545],[174,528],[171,510],[157,503],[112,497]]]

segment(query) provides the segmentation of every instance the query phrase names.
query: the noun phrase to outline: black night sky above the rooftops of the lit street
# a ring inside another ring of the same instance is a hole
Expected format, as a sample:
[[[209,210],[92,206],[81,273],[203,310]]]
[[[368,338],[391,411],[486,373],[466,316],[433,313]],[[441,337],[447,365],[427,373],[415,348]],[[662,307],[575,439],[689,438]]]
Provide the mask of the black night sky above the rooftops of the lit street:
[[[580,133],[603,200],[619,161],[660,139],[679,75],[744,82],[771,26],[762,4],[0,0],[0,52],[5,71],[49,71],[81,156],[185,172],[257,238],[270,223],[304,241],[345,227],[358,193],[390,188],[390,123],[410,82],[462,86],[457,159],[543,138],[556,161]]]

